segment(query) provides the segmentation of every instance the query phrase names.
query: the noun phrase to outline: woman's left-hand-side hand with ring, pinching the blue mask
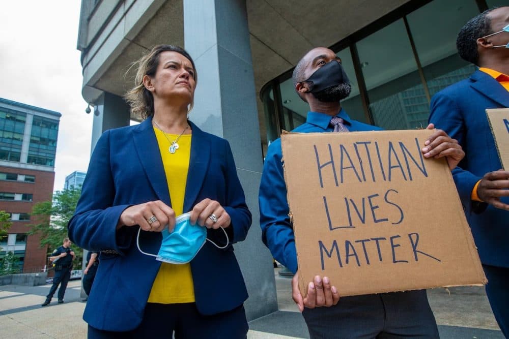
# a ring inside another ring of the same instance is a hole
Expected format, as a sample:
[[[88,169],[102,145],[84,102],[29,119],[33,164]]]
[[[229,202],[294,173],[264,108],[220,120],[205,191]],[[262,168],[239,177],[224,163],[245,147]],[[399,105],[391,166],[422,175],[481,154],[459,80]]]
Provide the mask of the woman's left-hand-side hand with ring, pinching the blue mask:
[[[171,232],[175,227],[175,211],[161,200],[128,207],[120,214],[117,229],[134,225],[150,232],[161,232],[168,225]]]

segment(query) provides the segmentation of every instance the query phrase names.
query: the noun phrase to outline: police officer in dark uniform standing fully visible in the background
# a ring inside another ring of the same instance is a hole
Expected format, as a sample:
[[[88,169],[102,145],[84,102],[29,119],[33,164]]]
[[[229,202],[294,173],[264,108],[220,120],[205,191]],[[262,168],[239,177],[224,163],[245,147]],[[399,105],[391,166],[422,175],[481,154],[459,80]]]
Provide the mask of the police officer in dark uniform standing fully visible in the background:
[[[46,301],[41,306],[46,306],[51,302],[56,288],[59,289],[59,304],[64,302],[64,293],[67,288],[69,278],[71,278],[72,261],[75,257],[74,251],[71,250],[71,240],[64,238],[62,246],[54,250],[49,260],[51,260],[55,267],[55,276],[53,277],[53,285],[46,296]]]

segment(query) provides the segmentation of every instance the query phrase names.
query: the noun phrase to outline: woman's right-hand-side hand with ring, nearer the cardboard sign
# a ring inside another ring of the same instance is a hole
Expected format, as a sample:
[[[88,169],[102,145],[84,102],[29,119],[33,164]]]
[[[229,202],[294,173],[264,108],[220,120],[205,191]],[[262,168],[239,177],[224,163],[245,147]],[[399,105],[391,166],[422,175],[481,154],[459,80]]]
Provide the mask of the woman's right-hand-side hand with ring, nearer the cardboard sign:
[[[200,226],[213,229],[227,228],[232,222],[227,211],[217,201],[210,199],[204,199],[194,205],[189,221],[192,225],[197,222]]]

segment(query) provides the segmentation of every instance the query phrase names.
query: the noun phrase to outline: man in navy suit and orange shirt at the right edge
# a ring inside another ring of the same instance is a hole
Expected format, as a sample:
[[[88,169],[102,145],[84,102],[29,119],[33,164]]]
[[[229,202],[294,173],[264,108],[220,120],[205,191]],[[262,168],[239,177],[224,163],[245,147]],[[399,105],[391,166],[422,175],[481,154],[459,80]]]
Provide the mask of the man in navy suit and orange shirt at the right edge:
[[[509,7],[468,21],[458,53],[479,67],[469,79],[437,93],[430,122],[457,139],[465,159],[453,171],[468,222],[488,278],[486,293],[498,324],[509,336],[509,172],[500,159],[485,110],[509,107]],[[507,169],[509,170],[509,169]]]

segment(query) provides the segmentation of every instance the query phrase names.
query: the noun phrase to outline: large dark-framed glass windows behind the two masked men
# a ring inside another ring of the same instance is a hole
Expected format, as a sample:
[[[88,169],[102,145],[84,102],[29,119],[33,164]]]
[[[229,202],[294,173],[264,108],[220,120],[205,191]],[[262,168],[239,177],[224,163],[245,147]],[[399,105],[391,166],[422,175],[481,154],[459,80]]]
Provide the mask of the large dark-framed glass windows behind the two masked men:
[[[380,20],[384,24],[338,42],[331,49],[352,84],[342,107],[353,119],[386,130],[425,128],[433,95],[475,71],[457,54],[459,30],[480,11],[500,5],[433,0],[409,12],[390,13],[390,19]],[[305,121],[308,105],[295,93],[291,76],[286,72],[261,91],[268,144],[281,130]]]

